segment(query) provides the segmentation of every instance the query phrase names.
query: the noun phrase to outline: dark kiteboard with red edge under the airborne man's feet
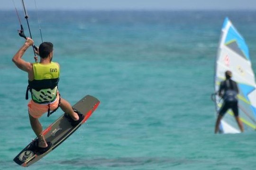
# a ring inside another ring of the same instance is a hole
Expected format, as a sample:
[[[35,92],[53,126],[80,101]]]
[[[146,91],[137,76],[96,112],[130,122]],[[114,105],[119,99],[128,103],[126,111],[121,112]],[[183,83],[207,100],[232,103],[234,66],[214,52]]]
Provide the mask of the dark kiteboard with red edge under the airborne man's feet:
[[[82,121],[73,126],[68,118],[63,114],[59,119],[52,123],[43,131],[43,135],[46,138],[46,142],[50,142],[51,147],[44,153],[38,150],[35,146],[37,138],[28,144],[18,155],[13,159],[18,165],[28,167],[29,165],[39,161],[46,154],[53,151],[58,145],[64,142],[69,136],[71,136],[87,119],[91,116],[92,112],[96,110],[100,101],[91,95],[86,95],[79,102],[73,105],[73,109],[78,110],[84,115]]]

